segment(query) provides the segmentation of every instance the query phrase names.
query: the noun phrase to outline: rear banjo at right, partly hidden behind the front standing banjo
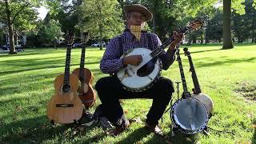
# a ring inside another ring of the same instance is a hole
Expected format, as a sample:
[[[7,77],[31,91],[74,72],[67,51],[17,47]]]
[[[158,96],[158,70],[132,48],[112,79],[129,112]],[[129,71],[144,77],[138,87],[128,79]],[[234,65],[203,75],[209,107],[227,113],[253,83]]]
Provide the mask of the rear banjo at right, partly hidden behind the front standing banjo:
[[[189,59],[191,77],[192,77],[192,80],[193,80],[193,83],[194,83],[194,89],[192,89],[193,93],[191,94],[191,96],[193,98],[198,99],[202,103],[204,103],[204,105],[206,106],[206,108],[208,110],[208,113],[210,114],[209,115],[209,117],[210,117],[212,115],[212,112],[213,112],[214,102],[208,95],[202,93],[201,87],[200,87],[199,82],[198,82],[197,74],[194,70],[194,64],[193,64],[190,52],[189,52],[188,48],[184,48],[183,50],[184,50],[185,55]]]

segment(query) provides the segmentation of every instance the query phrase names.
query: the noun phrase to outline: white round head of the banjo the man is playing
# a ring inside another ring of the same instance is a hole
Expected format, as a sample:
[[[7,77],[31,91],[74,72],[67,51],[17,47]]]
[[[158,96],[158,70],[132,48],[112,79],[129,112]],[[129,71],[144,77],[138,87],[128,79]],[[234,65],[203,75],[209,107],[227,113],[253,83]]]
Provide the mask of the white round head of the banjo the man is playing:
[[[151,87],[152,83],[159,78],[162,70],[162,62],[159,59],[154,62],[154,69],[152,69],[150,74],[146,76],[138,76],[138,70],[152,59],[150,56],[151,52],[151,50],[146,48],[136,48],[128,50],[125,54],[122,55],[121,58],[130,55],[142,55],[142,62],[140,65],[127,65],[124,69],[119,70],[117,73],[118,79],[126,88],[126,90],[134,92],[147,90]]]

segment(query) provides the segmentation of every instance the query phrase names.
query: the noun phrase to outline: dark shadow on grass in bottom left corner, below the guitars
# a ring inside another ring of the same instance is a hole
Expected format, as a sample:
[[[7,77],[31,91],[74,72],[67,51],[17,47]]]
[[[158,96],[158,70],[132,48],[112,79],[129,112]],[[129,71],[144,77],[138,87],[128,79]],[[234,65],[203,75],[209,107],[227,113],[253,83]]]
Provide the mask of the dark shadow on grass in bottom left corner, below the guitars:
[[[83,130],[79,130],[81,126],[78,124],[53,126],[46,120],[46,115],[43,115],[3,125],[0,130],[0,141],[3,143],[42,143],[47,140],[54,143],[98,142],[106,137],[106,134],[98,133],[92,138],[86,136],[87,133],[94,130],[95,126],[97,125],[86,127]]]

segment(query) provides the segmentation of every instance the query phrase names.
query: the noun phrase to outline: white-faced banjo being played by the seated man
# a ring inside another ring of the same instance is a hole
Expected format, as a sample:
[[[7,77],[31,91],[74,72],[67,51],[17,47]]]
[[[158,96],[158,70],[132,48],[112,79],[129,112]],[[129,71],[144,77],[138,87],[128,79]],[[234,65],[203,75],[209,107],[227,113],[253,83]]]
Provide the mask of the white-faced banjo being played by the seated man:
[[[195,30],[202,26],[201,20],[190,22],[188,26],[180,30],[178,33],[186,33],[189,30]],[[138,66],[127,65],[119,70],[117,77],[126,90],[132,92],[142,92],[148,90],[161,75],[162,62],[158,58],[164,51],[164,48],[174,42],[174,38],[169,38],[163,42],[162,46],[151,51],[147,48],[134,48],[122,54],[121,58],[131,55],[142,55],[142,62]]]

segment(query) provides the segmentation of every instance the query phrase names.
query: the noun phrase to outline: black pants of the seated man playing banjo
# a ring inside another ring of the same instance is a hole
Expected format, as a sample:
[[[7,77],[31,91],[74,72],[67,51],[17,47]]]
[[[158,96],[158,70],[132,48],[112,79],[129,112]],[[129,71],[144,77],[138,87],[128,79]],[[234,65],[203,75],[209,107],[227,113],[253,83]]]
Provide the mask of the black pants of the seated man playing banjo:
[[[171,95],[174,92],[173,82],[163,77],[159,78],[157,82],[154,82],[154,85],[149,90],[143,92],[135,93],[125,90],[115,76],[99,79],[95,88],[102,102],[103,114],[110,122],[114,123],[114,125],[120,122],[120,118],[123,118],[122,106],[118,99],[153,99],[150,111],[146,115],[146,122],[157,125],[158,120],[162,117],[166,106],[170,102]],[[134,106],[136,106],[136,104],[134,104]]]

